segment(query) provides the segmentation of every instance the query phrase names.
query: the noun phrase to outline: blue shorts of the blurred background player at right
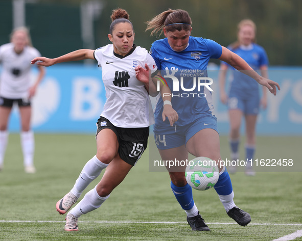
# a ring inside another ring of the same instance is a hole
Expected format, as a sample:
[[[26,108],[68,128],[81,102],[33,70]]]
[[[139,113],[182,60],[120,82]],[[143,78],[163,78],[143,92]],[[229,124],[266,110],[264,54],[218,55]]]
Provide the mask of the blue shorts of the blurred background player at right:
[[[258,115],[260,106],[259,91],[252,91],[246,95],[230,91],[228,96],[228,110],[241,110],[245,115]]]

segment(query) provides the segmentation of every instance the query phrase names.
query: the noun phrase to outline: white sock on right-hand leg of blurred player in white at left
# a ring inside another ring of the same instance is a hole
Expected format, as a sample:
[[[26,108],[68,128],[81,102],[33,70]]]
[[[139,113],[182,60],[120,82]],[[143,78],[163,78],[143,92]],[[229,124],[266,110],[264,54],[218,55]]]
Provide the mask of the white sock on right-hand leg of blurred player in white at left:
[[[24,156],[24,166],[33,166],[34,165],[34,149],[35,149],[35,139],[34,132],[29,131],[21,131],[21,147]]]

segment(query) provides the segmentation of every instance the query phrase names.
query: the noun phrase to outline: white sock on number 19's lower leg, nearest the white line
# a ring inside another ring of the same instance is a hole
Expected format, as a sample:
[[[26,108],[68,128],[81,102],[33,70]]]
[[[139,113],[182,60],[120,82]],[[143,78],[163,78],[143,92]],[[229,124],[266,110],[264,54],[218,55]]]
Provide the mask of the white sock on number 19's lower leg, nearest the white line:
[[[75,217],[79,218],[81,215],[99,208],[103,202],[109,198],[109,196],[110,194],[106,197],[100,197],[96,186],[94,189],[86,193],[84,198],[69,212]]]

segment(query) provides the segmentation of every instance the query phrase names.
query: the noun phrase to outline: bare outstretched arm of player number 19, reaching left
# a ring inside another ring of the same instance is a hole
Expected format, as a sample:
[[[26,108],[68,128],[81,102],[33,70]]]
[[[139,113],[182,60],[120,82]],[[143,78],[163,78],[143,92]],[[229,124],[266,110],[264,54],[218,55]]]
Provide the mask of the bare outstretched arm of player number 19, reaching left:
[[[78,60],[85,60],[85,59],[92,59],[94,60],[94,51],[93,49],[79,49],[73,52],[69,52],[66,55],[60,56],[55,59],[49,59],[45,57],[37,57],[31,61],[31,64],[35,64],[37,61],[37,65],[41,66],[52,66],[54,64],[59,64],[62,62],[69,62],[69,61],[78,61]]]

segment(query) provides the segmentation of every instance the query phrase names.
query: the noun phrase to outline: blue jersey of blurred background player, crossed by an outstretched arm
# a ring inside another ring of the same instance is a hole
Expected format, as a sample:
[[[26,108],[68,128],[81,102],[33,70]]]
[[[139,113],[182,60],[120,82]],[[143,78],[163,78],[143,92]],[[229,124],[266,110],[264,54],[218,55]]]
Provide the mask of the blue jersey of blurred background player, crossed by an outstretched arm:
[[[261,66],[268,65],[266,52],[264,48],[258,44],[253,43],[250,47],[247,48],[239,46],[235,49],[228,46],[228,49],[239,55],[242,59],[245,60],[246,63],[248,63],[250,67],[252,67],[256,71],[259,70]],[[226,63],[221,62],[221,64]],[[230,91],[250,92],[252,90],[259,90],[259,84],[253,78],[241,73],[238,70],[235,70],[234,67],[230,65],[228,65],[228,67],[234,70]]]

